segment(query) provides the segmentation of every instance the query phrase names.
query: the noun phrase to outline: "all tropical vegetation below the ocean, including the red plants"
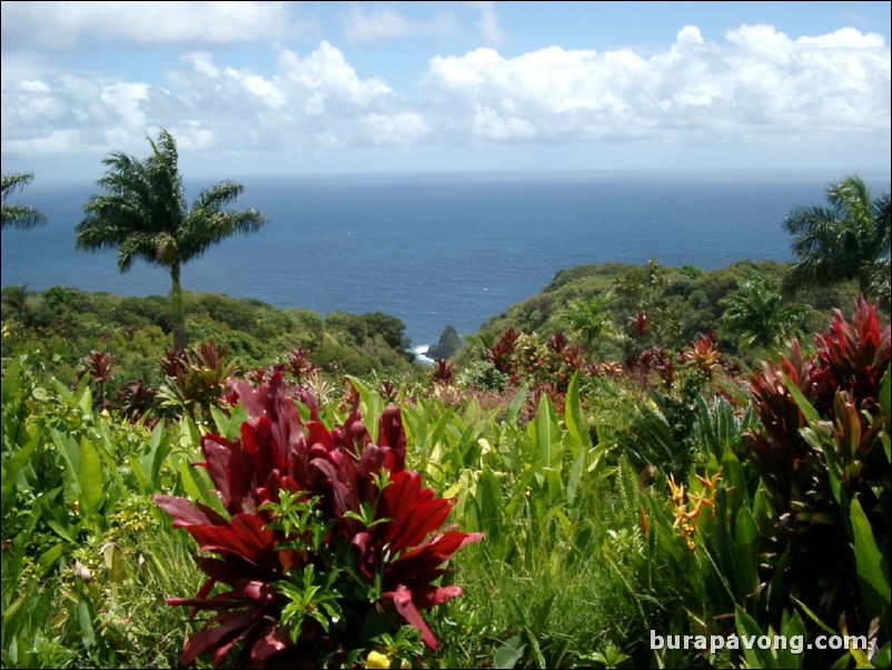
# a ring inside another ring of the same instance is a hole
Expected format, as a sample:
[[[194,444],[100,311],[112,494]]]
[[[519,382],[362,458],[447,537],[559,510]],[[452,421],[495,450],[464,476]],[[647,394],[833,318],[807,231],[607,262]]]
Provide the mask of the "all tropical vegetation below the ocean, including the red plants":
[[[4,290],[3,667],[889,667],[889,312],[790,267],[568,268],[429,367]]]

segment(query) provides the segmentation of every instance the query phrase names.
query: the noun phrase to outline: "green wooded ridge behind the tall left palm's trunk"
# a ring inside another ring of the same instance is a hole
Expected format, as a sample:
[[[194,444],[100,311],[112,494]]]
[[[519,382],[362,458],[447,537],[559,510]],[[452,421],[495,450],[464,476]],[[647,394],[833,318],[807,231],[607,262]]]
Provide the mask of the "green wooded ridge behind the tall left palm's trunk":
[[[49,372],[73,383],[82,358],[100,348],[117,359],[106,397],[113,397],[138,380],[153,388],[165,381],[158,363],[170,346],[166,298],[53,287],[24,292],[22,300],[22,292],[12,288],[4,289],[2,303],[3,356],[39,353]],[[297,346],[306,347],[317,365],[337,374],[366,375],[374,371],[396,376],[422,372],[403,346],[405,326],[380,314],[356,317],[364,332],[360,343],[343,331],[333,332],[323,317],[308,311],[281,311],[260,300],[219,294],[187,292],[184,300],[196,341],[214,338],[226,346],[229,361],[242,374],[281,361]],[[397,345],[390,346],[392,342]]]

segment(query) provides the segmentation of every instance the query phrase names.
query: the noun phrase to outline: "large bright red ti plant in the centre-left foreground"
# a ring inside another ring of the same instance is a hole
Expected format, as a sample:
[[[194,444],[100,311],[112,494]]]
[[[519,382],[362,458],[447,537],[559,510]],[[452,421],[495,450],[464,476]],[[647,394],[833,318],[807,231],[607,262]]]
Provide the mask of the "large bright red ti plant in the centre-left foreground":
[[[350,664],[375,635],[405,623],[436,649],[420,612],[462,594],[437,583],[443,564],[482,535],[442,528],[455,501],[436,499],[405,469],[399,408],[385,410],[373,441],[356,406],[329,430],[301,398],[310,414],[303,422],[280,371],[257,390],[232,385],[249,414],[240,439],[201,439],[228,516],[155,496],[199,554],[217,554],[196,559],[208,580],[195,598],[168,600],[192,615],[211,612],[184,663],[207,652],[217,667],[239,646],[244,667]]]

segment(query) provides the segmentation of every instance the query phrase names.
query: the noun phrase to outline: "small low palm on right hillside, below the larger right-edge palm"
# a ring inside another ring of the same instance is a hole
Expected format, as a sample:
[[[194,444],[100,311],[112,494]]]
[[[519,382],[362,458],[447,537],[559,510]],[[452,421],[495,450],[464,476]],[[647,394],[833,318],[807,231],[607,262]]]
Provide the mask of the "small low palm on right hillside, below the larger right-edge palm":
[[[740,292],[718,300],[725,308],[722,323],[737,334],[739,345],[773,346],[802,329],[805,305],[784,305],[781,294],[764,277],[740,285]]]

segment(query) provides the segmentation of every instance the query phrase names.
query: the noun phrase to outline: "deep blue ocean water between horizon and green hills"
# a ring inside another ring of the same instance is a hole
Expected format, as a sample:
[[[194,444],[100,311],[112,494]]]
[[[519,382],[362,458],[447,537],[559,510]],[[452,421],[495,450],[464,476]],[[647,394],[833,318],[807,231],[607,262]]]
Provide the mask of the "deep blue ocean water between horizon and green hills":
[[[557,270],[582,263],[656,258],[711,269],[744,258],[790,260],[784,214],[824,203],[826,183],[842,176],[232,176],[245,185],[237,206],[261,209],[270,224],[186,265],[182,285],[320,314],[385,312],[420,346],[447,324],[476,332]],[[888,177],[868,181],[876,196],[889,187]],[[167,294],[163,268],[137,263],[121,275],[113,250],[75,250],[73,228],[97,193],[93,184],[47,186],[38,176],[17,194],[49,223],[3,230],[2,286]]]

